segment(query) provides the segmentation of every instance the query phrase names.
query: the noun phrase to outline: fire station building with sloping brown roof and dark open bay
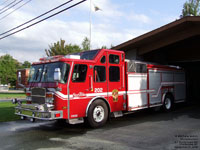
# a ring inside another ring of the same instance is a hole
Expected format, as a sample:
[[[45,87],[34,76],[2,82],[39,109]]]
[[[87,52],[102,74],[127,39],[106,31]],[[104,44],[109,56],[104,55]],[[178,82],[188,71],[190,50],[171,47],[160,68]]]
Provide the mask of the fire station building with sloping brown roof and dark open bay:
[[[200,100],[200,17],[184,17],[113,49],[124,51],[127,59],[183,67],[187,99]]]

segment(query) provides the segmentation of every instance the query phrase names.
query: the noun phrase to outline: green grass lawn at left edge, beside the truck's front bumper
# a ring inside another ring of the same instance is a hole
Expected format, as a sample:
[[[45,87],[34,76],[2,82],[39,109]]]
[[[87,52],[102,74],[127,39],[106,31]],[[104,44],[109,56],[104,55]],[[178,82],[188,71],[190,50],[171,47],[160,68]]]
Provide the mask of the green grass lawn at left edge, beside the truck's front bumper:
[[[20,117],[14,114],[15,104],[9,102],[0,102],[0,122],[19,120]]]

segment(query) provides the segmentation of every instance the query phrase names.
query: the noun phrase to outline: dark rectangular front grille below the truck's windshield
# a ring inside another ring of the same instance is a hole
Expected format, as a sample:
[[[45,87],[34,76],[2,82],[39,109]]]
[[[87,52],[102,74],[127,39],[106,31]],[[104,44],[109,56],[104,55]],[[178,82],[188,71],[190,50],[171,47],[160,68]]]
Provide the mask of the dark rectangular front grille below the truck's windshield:
[[[32,103],[44,104],[46,97],[46,90],[44,88],[33,88],[31,97],[32,97]]]

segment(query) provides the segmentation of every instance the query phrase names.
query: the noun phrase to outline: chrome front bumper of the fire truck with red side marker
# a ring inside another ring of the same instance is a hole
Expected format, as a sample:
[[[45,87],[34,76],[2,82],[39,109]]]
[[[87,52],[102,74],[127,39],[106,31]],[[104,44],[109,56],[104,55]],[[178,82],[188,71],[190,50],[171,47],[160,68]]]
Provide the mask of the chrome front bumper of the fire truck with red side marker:
[[[63,118],[63,111],[37,110],[33,104],[22,104],[15,107],[15,114],[40,120],[55,120]],[[38,105],[37,105],[38,106]]]

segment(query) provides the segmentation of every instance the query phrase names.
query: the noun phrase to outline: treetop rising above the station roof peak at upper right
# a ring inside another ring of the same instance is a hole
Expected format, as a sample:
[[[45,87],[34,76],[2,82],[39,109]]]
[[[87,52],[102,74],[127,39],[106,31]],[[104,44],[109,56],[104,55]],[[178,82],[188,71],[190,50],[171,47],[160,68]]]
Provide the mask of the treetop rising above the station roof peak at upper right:
[[[189,0],[183,5],[182,15],[185,16],[199,16],[200,15],[200,0]]]

